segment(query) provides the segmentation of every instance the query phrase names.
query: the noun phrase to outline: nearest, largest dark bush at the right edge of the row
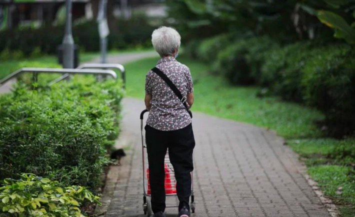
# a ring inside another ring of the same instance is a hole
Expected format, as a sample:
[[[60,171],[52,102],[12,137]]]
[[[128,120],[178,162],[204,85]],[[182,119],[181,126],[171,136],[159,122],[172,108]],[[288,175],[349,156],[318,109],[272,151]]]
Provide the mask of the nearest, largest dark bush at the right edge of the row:
[[[285,100],[317,107],[329,133],[355,130],[354,49],[346,44],[297,42],[266,52],[259,83]]]

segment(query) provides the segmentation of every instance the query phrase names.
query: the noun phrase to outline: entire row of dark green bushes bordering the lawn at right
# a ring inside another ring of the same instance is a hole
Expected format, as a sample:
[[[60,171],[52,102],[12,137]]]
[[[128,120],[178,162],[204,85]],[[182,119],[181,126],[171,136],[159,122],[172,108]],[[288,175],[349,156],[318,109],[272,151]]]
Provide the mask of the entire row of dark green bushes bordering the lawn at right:
[[[232,84],[258,84],[261,95],[318,108],[331,135],[355,132],[355,50],[350,45],[308,40],[281,46],[268,36],[235,40],[221,34],[192,41],[187,51],[210,62]]]

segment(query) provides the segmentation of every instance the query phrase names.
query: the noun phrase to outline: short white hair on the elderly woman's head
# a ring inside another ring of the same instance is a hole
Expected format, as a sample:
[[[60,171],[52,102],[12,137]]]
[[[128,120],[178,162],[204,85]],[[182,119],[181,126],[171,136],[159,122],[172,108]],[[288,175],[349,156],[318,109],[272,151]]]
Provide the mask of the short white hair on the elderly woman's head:
[[[172,55],[180,47],[180,34],[171,27],[161,26],[151,34],[151,43],[160,56]]]

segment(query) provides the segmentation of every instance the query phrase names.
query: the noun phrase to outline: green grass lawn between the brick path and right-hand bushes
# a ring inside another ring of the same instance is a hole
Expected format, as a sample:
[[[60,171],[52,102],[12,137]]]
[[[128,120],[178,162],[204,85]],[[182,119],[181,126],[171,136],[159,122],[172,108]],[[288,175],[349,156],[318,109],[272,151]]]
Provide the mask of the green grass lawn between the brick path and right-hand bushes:
[[[230,86],[223,77],[208,73],[207,65],[183,56],[178,60],[190,68],[193,77],[192,111],[275,130],[287,139],[293,150],[306,158],[308,173],[318,181],[324,193],[340,205],[341,216],[355,215],[355,175],[349,166],[355,161],[346,156],[355,150],[354,138],[323,138],[321,130],[313,124],[314,120],[324,117],[321,112],[277,97],[258,98],[257,87]],[[125,64],[128,96],[144,97],[145,74],[156,61],[157,58],[147,58]],[[342,187],[341,194],[336,193],[339,187]]]

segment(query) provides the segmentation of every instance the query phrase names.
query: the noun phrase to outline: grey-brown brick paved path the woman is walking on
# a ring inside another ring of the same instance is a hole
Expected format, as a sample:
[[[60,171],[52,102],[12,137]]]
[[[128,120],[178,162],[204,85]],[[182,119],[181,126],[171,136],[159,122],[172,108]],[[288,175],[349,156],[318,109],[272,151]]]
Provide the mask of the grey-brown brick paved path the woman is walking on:
[[[142,213],[139,113],[142,100],[123,100],[121,139],[130,143],[117,173],[106,217],[144,216]],[[145,117],[146,118],[146,117]],[[248,124],[194,113],[194,191],[192,216],[330,216],[298,170],[297,156],[280,137]],[[171,200],[171,198],[170,198]],[[175,203],[172,198],[170,203]],[[167,216],[175,216],[168,208]]]

